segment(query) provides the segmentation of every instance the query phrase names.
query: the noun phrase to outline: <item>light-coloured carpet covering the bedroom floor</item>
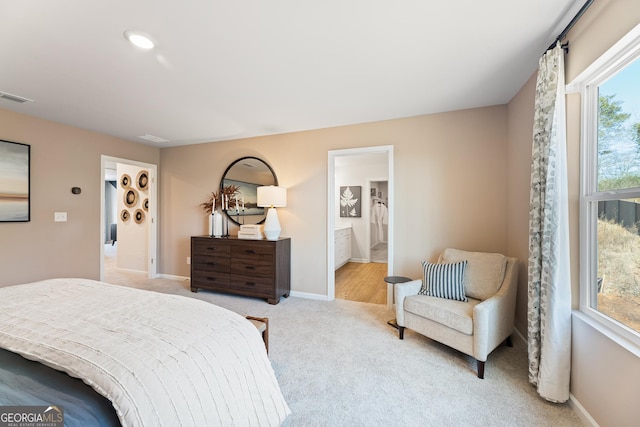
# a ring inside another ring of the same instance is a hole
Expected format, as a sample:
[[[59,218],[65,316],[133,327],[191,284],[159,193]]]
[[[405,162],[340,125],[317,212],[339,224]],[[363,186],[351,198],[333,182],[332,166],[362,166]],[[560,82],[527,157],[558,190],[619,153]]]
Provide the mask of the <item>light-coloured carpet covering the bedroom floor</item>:
[[[470,357],[412,331],[399,340],[386,305],[290,297],[263,300],[200,291],[186,280],[107,274],[106,281],[199,298],[269,317],[269,358],[292,414],[285,426],[581,426],[567,405],[538,397],[525,344],[501,346],[485,379]]]

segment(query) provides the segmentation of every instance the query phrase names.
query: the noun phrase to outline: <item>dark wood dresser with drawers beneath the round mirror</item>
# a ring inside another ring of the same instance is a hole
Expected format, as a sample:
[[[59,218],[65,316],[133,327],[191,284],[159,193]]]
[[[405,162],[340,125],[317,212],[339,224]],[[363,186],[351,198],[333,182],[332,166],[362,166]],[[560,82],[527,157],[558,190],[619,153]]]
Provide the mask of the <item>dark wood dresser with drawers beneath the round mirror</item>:
[[[277,304],[291,289],[291,239],[191,237],[191,291],[265,298]]]

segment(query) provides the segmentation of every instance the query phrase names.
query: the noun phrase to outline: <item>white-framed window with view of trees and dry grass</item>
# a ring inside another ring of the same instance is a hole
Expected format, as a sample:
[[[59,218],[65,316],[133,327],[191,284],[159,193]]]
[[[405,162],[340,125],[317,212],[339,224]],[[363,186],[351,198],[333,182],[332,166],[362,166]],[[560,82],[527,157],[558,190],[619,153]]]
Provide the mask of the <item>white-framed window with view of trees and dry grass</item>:
[[[636,345],[640,345],[639,28],[630,33],[635,37],[623,38],[579,82],[581,311]]]

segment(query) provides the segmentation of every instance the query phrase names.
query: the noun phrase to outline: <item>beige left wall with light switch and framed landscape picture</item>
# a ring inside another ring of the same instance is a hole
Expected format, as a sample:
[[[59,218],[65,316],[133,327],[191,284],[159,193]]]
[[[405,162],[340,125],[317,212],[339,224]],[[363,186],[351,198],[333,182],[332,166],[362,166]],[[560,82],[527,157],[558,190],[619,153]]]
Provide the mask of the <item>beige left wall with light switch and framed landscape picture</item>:
[[[0,223],[0,286],[99,279],[100,156],[157,164],[159,149],[2,109],[0,139],[31,145],[31,221]],[[68,221],[54,222],[54,212]]]

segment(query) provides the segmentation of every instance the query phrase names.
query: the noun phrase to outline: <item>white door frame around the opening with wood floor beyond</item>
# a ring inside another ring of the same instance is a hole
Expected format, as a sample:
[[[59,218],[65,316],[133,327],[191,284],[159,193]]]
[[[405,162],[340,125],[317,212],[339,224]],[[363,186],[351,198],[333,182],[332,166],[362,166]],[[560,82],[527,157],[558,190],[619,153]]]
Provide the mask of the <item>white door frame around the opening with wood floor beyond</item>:
[[[358,156],[363,154],[386,153],[388,162],[388,191],[389,191],[389,219],[388,219],[388,243],[387,243],[387,275],[393,275],[393,241],[394,241],[394,190],[393,190],[393,145],[379,145],[363,148],[349,148],[343,150],[329,150],[327,173],[327,300],[336,298],[335,278],[335,226],[336,226],[336,189],[335,166],[336,158],[343,156]]]

